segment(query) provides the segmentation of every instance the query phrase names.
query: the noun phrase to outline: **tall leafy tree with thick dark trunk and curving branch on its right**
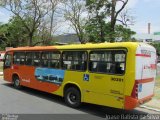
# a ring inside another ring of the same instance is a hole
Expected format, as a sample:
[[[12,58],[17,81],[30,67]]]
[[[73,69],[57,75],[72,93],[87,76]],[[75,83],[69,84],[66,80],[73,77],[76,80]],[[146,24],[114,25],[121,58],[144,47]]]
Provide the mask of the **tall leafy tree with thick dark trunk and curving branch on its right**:
[[[121,13],[127,3],[128,0],[86,0],[86,6],[89,10],[91,20],[91,22],[89,23],[89,28],[97,28],[97,35],[100,36],[98,39],[101,39],[101,42],[115,41],[115,27],[117,21],[119,21],[123,25],[125,23],[126,26],[127,22],[129,21],[128,15],[126,14],[127,12],[124,12],[123,14]],[[119,9],[117,9],[117,5],[119,5]],[[121,19],[118,19],[119,16]],[[108,20],[109,22],[107,22]],[[91,36],[93,36],[92,33]]]

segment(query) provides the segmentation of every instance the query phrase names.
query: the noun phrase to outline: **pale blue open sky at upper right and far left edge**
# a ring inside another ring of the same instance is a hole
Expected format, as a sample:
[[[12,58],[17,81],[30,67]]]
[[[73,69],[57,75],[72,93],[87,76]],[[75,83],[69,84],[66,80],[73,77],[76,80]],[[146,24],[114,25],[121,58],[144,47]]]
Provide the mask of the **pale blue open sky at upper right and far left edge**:
[[[134,17],[134,25],[130,28],[137,33],[147,33],[151,23],[151,33],[160,32],[160,0],[129,0],[127,9]],[[159,12],[158,12],[159,11]],[[7,23],[11,13],[0,8],[0,22]]]

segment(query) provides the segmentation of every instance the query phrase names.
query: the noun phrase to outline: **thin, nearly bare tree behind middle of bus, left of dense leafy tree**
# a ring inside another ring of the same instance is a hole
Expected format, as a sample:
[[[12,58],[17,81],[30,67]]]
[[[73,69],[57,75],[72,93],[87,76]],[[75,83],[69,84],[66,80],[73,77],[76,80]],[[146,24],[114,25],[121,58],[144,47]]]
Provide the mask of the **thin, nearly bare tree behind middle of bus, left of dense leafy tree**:
[[[84,0],[66,0],[64,2],[65,9],[64,18],[69,21],[71,27],[75,30],[79,41],[85,43],[85,23],[86,23],[86,8]]]

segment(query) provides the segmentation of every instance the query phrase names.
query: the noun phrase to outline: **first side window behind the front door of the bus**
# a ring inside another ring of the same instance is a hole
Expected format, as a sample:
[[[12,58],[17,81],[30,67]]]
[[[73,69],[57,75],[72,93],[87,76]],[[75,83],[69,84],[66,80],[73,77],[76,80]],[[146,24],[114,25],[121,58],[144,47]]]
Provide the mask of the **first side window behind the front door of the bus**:
[[[13,63],[24,65],[24,63],[25,63],[25,52],[14,52]]]

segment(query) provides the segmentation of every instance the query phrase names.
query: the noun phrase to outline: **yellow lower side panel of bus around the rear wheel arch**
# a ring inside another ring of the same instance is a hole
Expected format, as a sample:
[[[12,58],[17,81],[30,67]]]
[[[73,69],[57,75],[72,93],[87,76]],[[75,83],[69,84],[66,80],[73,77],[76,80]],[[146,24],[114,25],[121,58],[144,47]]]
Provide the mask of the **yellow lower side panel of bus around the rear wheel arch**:
[[[80,89],[82,102],[123,108],[124,81],[113,81],[112,78],[122,80],[124,76],[66,71],[62,87],[53,93],[62,96],[64,85],[72,83]]]

